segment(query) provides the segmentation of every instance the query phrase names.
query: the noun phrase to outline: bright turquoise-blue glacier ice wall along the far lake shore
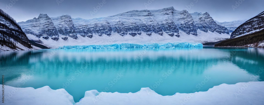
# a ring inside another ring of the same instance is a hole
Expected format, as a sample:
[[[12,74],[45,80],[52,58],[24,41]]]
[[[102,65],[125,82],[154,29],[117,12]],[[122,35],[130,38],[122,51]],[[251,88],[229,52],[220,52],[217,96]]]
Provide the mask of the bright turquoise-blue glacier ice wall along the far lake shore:
[[[166,43],[166,44],[133,44],[121,43],[111,45],[67,45],[59,47],[59,49],[125,49],[125,48],[202,48],[201,43]]]

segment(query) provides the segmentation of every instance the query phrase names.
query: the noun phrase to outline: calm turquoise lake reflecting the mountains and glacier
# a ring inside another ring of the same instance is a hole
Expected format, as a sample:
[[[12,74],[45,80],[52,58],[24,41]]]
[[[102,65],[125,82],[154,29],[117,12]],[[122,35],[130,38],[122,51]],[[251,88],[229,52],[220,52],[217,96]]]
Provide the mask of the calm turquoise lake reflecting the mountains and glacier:
[[[85,91],[160,95],[208,91],[222,83],[264,80],[262,48],[47,49],[1,51],[5,85],[65,88],[75,102]],[[263,72],[263,73],[262,73]]]

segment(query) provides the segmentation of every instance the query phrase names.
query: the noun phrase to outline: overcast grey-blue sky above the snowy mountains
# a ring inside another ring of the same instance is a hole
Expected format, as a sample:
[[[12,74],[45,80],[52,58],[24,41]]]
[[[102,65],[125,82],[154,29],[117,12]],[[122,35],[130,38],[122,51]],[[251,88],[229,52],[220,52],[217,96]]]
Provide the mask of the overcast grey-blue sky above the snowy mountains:
[[[208,12],[219,22],[250,19],[264,11],[264,0],[1,0],[0,8],[17,22],[46,13],[50,17],[69,14],[72,18],[107,17],[130,10],[161,9],[173,6],[176,10]],[[237,3],[236,3],[237,2]],[[103,4],[98,11],[99,4]],[[11,5],[12,4],[12,5]],[[233,5],[233,7],[232,7]],[[91,12],[92,15],[91,15]]]

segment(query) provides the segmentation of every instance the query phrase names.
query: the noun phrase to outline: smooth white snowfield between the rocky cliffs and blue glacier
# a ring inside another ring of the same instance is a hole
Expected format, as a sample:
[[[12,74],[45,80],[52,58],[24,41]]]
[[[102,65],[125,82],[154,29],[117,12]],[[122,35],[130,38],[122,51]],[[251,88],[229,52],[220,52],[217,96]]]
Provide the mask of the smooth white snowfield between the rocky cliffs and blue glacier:
[[[220,40],[229,39],[230,35],[228,34],[219,34],[216,32],[208,31],[205,33],[204,31],[197,31],[198,36],[194,36],[192,34],[188,35],[180,30],[180,38],[171,37],[168,34],[164,33],[163,36],[152,33],[151,36],[148,36],[146,33],[142,33],[141,35],[136,35],[135,37],[131,35],[121,36],[117,33],[113,33],[111,36],[107,36],[103,34],[102,36],[93,35],[92,38],[82,37],[77,34],[78,39],[70,38],[68,40],[52,40],[49,38],[48,40],[39,38],[45,46],[50,47],[51,49],[57,49],[62,46],[82,46],[82,45],[111,45],[111,44],[121,44],[121,43],[132,43],[132,44],[165,44],[165,43],[206,43],[206,42],[217,42]],[[36,40],[37,37],[34,35],[27,34],[29,39]],[[63,35],[59,35],[61,38]]]

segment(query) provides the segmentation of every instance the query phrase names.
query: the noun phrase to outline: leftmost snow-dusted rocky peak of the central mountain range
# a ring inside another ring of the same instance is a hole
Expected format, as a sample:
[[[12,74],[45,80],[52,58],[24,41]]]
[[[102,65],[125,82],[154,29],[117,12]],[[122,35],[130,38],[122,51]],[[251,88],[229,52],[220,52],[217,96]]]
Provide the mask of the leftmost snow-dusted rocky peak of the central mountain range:
[[[53,21],[47,14],[40,14],[38,18],[27,20],[26,22],[18,22],[22,30],[27,34],[32,34],[38,38],[43,37],[48,39],[51,37],[53,40],[59,40],[59,34]]]

